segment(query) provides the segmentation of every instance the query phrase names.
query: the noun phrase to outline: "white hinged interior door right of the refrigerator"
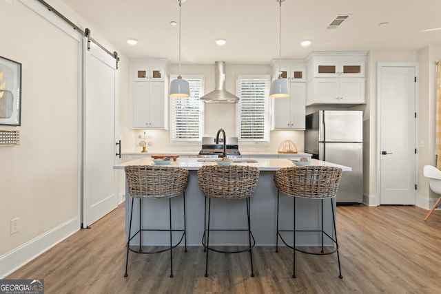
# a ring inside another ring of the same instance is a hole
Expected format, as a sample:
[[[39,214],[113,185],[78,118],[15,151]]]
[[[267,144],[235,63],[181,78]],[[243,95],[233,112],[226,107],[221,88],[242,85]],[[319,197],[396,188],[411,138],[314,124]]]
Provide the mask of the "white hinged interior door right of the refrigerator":
[[[378,67],[380,204],[416,204],[417,67]]]

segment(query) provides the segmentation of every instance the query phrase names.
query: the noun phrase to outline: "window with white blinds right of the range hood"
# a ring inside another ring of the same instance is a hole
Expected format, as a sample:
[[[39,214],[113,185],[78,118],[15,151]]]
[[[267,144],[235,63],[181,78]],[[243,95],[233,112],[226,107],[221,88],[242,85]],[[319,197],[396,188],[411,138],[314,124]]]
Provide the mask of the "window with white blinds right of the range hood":
[[[269,75],[236,79],[236,134],[240,143],[269,143]]]

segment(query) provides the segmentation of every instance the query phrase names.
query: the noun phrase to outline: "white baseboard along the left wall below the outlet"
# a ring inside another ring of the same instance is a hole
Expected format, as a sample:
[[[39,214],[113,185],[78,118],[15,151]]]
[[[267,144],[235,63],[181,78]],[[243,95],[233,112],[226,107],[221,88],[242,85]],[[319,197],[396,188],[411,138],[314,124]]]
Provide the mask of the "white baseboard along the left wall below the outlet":
[[[80,229],[78,216],[0,256],[0,279],[17,271]]]

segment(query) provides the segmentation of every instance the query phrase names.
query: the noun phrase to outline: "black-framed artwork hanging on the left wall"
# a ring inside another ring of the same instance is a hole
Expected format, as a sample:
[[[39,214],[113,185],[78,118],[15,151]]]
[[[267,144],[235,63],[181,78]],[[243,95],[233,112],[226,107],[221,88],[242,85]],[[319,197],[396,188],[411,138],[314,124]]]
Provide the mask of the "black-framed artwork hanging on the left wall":
[[[21,125],[21,63],[0,56],[0,125]]]

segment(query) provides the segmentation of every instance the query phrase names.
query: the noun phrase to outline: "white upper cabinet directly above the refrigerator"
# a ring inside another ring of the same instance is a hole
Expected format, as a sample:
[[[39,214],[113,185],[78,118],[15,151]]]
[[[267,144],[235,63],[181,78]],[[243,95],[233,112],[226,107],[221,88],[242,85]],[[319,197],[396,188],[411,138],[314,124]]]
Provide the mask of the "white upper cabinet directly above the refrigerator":
[[[307,62],[307,103],[363,104],[367,52],[312,52]]]

